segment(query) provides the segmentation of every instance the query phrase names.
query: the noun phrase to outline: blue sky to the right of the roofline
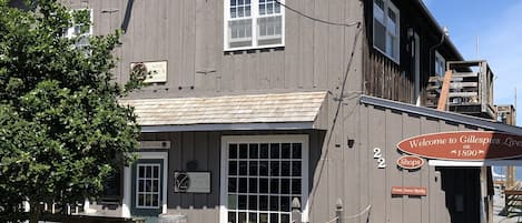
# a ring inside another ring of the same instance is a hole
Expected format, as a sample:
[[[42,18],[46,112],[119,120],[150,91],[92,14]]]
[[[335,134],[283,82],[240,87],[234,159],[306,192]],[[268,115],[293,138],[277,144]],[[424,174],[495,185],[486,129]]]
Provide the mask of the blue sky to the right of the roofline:
[[[465,60],[485,59],[496,75],[496,104],[522,107],[522,1],[424,0]],[[479,37],[479,38],[477,38]],[[476,52],[479,39],[479,54]],[[522,125],[522,109],[516,124]]]

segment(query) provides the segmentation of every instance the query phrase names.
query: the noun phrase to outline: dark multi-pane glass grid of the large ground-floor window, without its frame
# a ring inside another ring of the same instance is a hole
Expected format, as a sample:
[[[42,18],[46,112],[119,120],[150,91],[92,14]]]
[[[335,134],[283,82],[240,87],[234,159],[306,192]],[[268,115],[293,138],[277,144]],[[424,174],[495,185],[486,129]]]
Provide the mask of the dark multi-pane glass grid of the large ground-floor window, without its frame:
[[[287,223],[302,196],[302,143],[229,143],[228,222]]]

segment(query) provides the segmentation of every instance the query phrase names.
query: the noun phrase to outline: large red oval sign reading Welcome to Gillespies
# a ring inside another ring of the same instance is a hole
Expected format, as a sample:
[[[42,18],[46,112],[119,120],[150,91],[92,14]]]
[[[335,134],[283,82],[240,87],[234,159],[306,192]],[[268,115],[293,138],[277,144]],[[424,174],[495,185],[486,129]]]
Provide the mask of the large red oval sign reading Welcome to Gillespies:
[[[522,136],[500,132],[443,132],[403,140],[397,149],[439,160],[500,160],[522,156]]]

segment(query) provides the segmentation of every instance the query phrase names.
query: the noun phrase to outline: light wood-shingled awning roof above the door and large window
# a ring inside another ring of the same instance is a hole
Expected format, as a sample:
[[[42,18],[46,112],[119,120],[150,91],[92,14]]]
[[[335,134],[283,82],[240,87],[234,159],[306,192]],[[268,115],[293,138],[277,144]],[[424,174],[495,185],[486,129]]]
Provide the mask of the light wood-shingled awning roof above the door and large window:
[[[137,99],[142,132],[314,129],[326,92]]]

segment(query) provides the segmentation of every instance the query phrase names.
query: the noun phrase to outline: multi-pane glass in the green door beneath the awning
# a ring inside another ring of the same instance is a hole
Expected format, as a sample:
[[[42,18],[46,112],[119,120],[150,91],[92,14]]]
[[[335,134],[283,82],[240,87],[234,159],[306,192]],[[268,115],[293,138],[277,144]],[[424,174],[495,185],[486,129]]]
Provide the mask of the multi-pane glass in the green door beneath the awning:
[[[159,207],[160,165],[138,163],[136,169],[136,207]]]

